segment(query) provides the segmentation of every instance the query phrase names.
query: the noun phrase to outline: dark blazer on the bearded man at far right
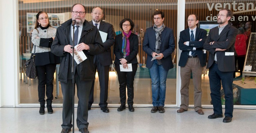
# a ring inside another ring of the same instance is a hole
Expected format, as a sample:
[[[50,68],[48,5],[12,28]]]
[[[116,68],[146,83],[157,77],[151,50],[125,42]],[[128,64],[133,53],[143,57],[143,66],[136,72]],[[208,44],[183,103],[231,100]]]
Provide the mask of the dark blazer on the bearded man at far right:
[[[227,52],[234,53],[234,43],[238,30],[229,24],[222,30],[219,35],[219,28],[214,27],[209,31],[209,35],[204,42],[203,48],[209,51],[207,68],[211,67],[214,61],[214,53],[216,48],[227,49],[225,51],[216,51],[218,69],[222,72],[235,71],[235,56],[228,55]],[[212,45],[209,42],[214,41]],[[225,53],[227,55],[225,55]]]

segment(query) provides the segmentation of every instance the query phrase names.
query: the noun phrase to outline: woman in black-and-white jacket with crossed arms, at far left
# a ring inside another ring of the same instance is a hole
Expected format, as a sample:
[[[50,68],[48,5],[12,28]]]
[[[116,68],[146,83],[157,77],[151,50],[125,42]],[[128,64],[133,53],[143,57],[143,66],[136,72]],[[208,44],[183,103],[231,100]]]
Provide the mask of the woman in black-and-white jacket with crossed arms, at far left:
[[[39,114],[45,113],[45,94],[48,113],[53,113],[53,78],[56,64],[60,63],[60,57],[51,53],[51,46],[56,34],[56,29],[51,27],[46,12],[38,12],[36,25],[32,31],[32,56],[35,51],[35,64],[38,78],[38,98],[40,102]],[[45,87],[46,85],[46,87]]]

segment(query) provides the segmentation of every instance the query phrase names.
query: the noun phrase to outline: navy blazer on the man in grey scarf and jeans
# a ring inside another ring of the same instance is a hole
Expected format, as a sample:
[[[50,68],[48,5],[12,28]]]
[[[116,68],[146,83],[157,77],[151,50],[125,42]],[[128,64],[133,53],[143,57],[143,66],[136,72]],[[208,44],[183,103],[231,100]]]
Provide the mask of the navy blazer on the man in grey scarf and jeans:
[[[143,50],[147,53],[147,61],[146,67],[151,68],[153,58],[151,53],[155,52],[155,31],[153,27],[147,28],[144,34],[143,39]],[[174,51],[175,44],[174,44],[174,37],[173,37],[173,30],[165,27],[163,32],[161,33],[161,43],[160,43],[160,53],[163,54],[163,58],[161,59],[161,63],[165,70],[169,70],[173,68],[171,53]]]

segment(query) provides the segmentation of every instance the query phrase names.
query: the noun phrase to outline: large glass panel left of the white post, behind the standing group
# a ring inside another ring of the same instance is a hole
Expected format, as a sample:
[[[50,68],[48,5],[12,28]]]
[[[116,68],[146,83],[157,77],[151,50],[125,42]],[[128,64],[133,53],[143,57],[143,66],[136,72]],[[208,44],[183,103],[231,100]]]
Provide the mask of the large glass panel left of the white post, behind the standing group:
[[[153,25],[152,14],[156,10],[165,13],[164,24],[172,28],[177,40],[177,0],[19,0],[19,30],[20,30],[20,103],[38,103],[38,80],[30,80],[24,75],[24,63],[29,59],[32,50],[31,31],[35,26],[35,15],[39,11],[45,11],[49,15],[50,24],[57,28],[63,22],[71,18],[71,8],[74,3],[81,3],[86,6],[86,20],[91,21],[92,9],[96,6],[104,10],[103,20],[114,26],[115,33],[120,34],[119,23],[123,18],[130,18],[135,25],[138,25],[141,32]],[[143,41],[143,40],[142,40]],[[111,48],[112,60],[115,59],[113,53],[114,46]],[[134,104],[151,104],[151,80],[146,66],[147,55],[139,45],[138,51],[141,67],[138,66],[134,79]],[[176,46],[172,54],[174,68],[169,70],[166,81],[166,100],[165,104],[176,104]],[[113,66],[110,66],[109,80],[109,104],[119,104],[119,83]],[[55,74],[56,75],[56,74]],[[54,79],[54,96],[53,103],[62,103],[61,86],[56,84]],[[57,89],[56,89],[57,88]],[[94,88],[94,103],[97,105],[100,101],[100,85],[98,75],[96,74]],[[77,103],[77,97],[75,97]]]

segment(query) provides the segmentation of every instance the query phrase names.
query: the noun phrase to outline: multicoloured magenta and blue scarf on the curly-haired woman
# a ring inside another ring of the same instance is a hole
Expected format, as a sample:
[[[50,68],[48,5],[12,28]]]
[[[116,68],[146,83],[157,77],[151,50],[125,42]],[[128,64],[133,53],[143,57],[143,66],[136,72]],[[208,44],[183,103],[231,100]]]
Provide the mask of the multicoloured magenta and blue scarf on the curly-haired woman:
[[[124,31],[122,32],[123,35],[123,45],[122,45],[122,52],[124,54],[124,58],[130,54],[130,41],[129,37],[131,35],[131,30],[127,33]]]

